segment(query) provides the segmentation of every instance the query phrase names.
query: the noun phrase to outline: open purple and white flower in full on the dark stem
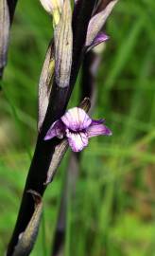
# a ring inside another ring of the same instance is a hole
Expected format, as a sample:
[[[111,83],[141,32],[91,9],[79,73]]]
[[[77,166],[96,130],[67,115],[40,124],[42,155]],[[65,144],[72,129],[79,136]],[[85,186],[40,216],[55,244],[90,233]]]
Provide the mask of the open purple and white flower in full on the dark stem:
[[[83,109],[74,107],[52,124],[44,140],[67,137],[71,149],[79,152],[88,145],[89,137],[112,135],[111,130],[103,122],[104,119],[90,119]]]

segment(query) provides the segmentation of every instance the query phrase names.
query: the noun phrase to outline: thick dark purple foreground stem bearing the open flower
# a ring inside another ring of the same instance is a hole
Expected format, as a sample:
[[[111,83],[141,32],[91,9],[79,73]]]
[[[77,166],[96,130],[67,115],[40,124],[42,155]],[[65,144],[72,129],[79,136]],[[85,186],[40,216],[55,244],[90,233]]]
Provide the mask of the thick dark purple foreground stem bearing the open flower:
[[[45,136],[51,123],[56,119],[60,119],[60,117],[63,115],[67,103],[70,99],[73,87],[78,77],[78,70],[83,57],[83,46],[85,43],[87,27],[94,6],[95,0],[82,0],[81,9],[78,11],[78,15],[74,16],[74,50],[70,86],[67,89],[61,89],[56,82],[54,82],[52,85],[50,102],[48,105],[47,113],[45,115],[45,119],[43,121],[41,134],[39,134],[37,139],[35,153],[32,158],[26,179],[26,187],[22,198],[21,208],[19,210],[15,229],[9,242],[7,256],[12,255],[14,247],[18,242],[18,237],[20,233],[26,229],[26,226],[34,211],[34,201],[26,191],[33,190],[43,195],[43,192],[46,189],[43,183],[46,180],[46,174],[49,169],[51,157],[56,145],[58,145],[60,140],[54,138],[49,141],[43,141],[43,137]]]

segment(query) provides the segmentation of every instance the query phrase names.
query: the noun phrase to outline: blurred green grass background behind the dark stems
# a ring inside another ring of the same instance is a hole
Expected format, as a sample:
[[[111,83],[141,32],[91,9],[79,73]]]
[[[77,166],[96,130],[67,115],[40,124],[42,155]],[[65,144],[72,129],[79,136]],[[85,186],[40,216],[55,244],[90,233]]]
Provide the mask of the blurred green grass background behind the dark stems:
[[[66,256],[155,255],[155,2],[121,1],[107,24],[94,117],[112,137],[83,152],[76,198],[67,209]],[[19,1],[0,92],[0,254],[14,227],[36,139],[37,85],[52,25],[39,1]],[[78,84],[71,104],[76,105]],[[69,155],[69,154],[68,154]],[[32,256],[49,255],[67,168],[44,197]],[[76,246],[75,246],[76,245]]]

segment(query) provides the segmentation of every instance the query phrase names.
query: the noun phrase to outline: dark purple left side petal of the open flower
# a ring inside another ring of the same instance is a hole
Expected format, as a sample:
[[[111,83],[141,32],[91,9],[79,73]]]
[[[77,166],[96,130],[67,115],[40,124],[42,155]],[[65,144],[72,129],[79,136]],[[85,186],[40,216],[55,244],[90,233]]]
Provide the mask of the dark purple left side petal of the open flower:
[[[52,126],[49,128],[44,140],[51,139],[53,137],[62,138],[64,135],[64,124],[61,120],[55,121]]]

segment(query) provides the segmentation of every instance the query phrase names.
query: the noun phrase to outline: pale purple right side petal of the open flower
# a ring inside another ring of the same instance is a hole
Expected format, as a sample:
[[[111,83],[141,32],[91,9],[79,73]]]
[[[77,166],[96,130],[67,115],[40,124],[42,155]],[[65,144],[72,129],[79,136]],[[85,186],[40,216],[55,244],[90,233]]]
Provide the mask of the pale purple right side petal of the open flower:
[[[87,128],[86,132],[88,137],[95,137],[100,135],[112,136],[112,131],[104,124],[101,124],[101,120],[93,121],[92,124]]]

